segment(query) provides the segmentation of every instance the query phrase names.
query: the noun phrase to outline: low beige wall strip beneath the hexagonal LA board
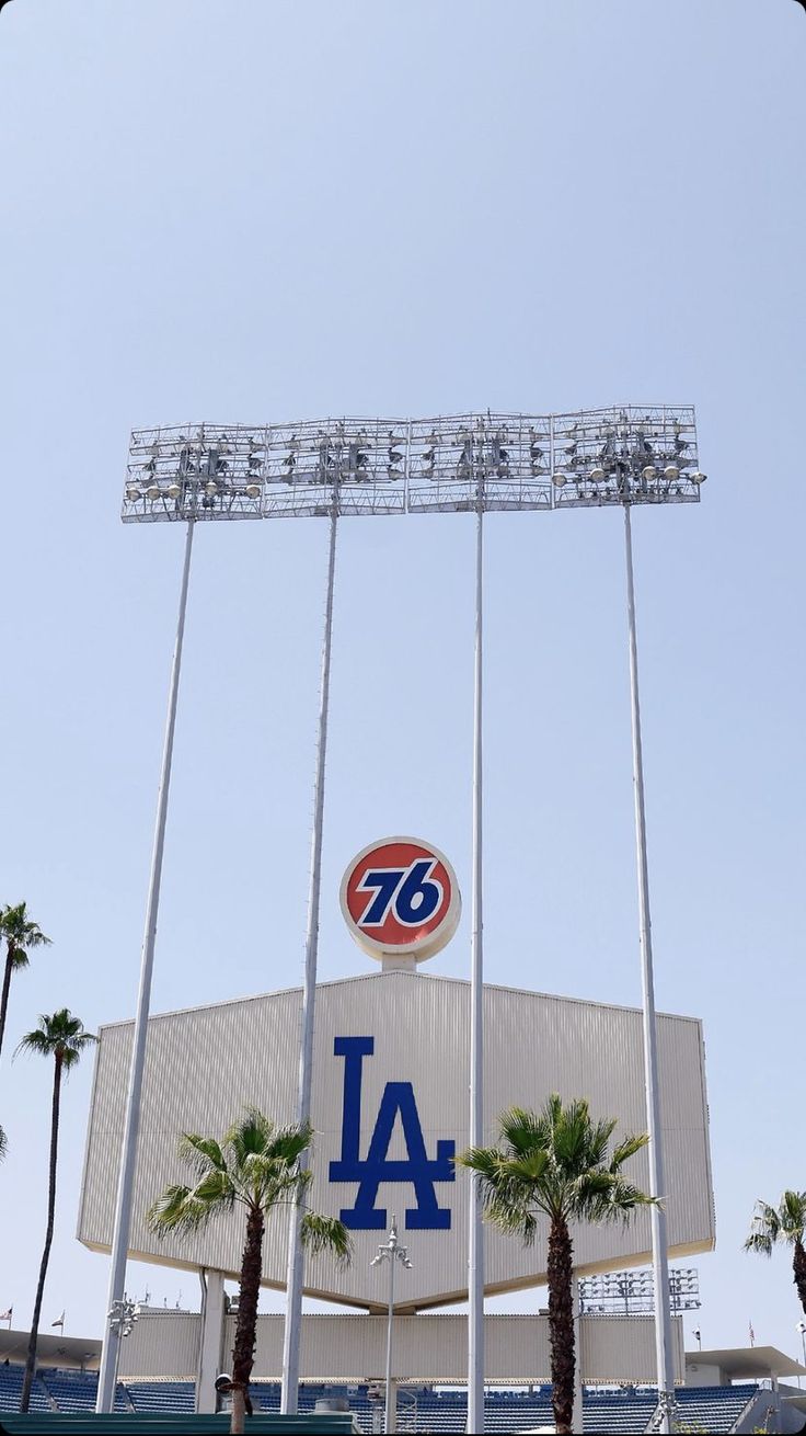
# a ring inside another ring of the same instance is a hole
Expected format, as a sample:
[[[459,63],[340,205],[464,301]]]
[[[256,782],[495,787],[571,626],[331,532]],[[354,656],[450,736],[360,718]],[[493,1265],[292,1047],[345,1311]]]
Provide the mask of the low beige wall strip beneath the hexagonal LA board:
[[[166,1311],[145,1315],[126,1337],[120,1374],[194,1377],[201,1317]],[[225,1320],[224,1364],[235,1338],[235,1318]],[[406,1381],[465,1381],[468,1321],[462,1315],[394,1318],[394,1376]],[[582,1317],[579,1321],[582,1380],[654,1381],[654,1323],[647,1317]],[[684,1374],[683,1323],[673,1321],[675,1379]],[[255,1379],[280,1380],[283,1317],[258,1317]],[[303,1380],[363,1381],[386,1370],[386,1317],[310,1315],[303,1318]],[[485,1376],[490,1383],[548,1381],[551,1377],[548,1318],[485,1317]]]

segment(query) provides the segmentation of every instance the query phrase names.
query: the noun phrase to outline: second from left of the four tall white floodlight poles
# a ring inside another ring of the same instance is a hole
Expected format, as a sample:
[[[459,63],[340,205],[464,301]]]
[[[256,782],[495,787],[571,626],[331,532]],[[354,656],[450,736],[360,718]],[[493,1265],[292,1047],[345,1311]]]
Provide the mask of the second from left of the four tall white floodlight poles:
[[[327,711],[330,695],[330,649],[333,638],[333,589],[336,580],[336,526],[338,500],[333,495],[330,516],[330,550],[327,560],[327,599],[324,606],[324,638],[321,646],[321,684],[318,704],[318,735],[314,780],[314,829],[311,836],[311,875],[308,886],[308,922],[305,933],[305,978],[303,987],[303,1034],[300,1041],[300,1080],[297,1120],[311,1116],[311,1080],[314,1064],[314,1008],[318,958],[318,916],[321,887],[321,833],[324,820],[324,765],[327,757]],[[280,1410],[284,1416],[297,1412],[300,1387],[300,1337],[303,1330],[303,1272],[301,1242],[303,1208],[293,1206],[288,1218],[288,1274],[285,1282],[285,1325],[283,1334],[283,1387]]]

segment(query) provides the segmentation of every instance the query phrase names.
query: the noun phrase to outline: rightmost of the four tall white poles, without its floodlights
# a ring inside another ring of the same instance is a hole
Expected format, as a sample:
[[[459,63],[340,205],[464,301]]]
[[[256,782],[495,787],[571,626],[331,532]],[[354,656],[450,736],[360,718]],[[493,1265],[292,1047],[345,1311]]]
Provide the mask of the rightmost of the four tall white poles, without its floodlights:
[[[627,617],[630,628],[630,696],[632,707],[632,783],[635,791],[635,849],[638,859],[638,920],[644,992],[644,1083],[647,1090],[647,1129],[650,1133],[650,1196],[664,1198],[665,1189],[663,1175],[658,1047],[653,976],[653,933],[650,922],[650,876],[647,864],[644,758],[641,751],[641,704],[638,696],[638,643],[635,638],[635,587],[632,579],[632,530],[630,523],[630,504],[624,505],[624,534],[627,547]],[[674,1404],[674,1371],[671,1366],[671,1305],[665,1211],[660,1206],[653,1206],[650,1208],[650,1216],[653,1232],[658,1403],[663,1407],[663,1420],[658,1429],[661,1432],[670,1432],[671,1410]]]

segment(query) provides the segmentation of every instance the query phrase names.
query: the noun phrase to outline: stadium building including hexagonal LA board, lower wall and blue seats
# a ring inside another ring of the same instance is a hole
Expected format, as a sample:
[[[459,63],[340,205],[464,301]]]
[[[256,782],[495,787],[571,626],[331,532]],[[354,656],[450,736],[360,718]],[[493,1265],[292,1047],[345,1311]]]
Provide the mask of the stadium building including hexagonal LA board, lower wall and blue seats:
[[[350,1410],[364,1432],[383,1430],[386,1282],[370,1261],[393,1215],[412,1268],[394,1302],[397,1429],[459,1432],[466,1425],[466,1317],[449,1310],[468,1295],[468,1180],[452,1163],[468,1143],[470,987],[390,965],[317,988],[313,1116],[317,1130],[313,1203],[340,1213],[354,1255],[305,1268],[305,1292],[337,1302],[333,1315],[303,1321],[301,1412]],[[131,1256],[199,1279],[201,1311],[146,1308],[120,1341],[116,1412],[214,1412],[215,1376],[229,1366],[235,1315],[225,1281],[240,1271],[242,1229],[222,1218],[204,1234],[156,1239],[145,1212],[165,1185],[182,1180],[181,1133],[221,1134],[244,1106],[293,1120],[300,989],[152,1017]],[[620,1114],[620,1130],[644,1122],[641,1012],[632,1008],[485,988],[485,1123],[513,1101],[539,1106],[546,1093],[592,1094],[594,1114]],[[100,1030],[79,1212],[79,1239],[109,1251],[133,1024]],[[714,1246],[701,1025],[660,1015],[663,1129],[668,1153],[670,1256]],[[634,1178],[645,1182],[645,1152]],[[643,1166],[644,1165],[644,1166]],[[627,1228],[575,1232],[577,1278],[645,1267],[647,1213]],[[287,1222],[268,1222],[264,1285],[285,1285]],[[489,1295],[545,1285],[545,1235],[531,1249],[489,1231]],[[485,1426],[552,1429],[548,1321],[485,1317]],[[447,1310],[440,1310],[447,1308]],[[797,1430],[802,1403],[782,1386],[806,1369],[772,1348],[686,1353],[673,1318],[678,1419],[684,1427]],[[14,1410],[26,1338],[0,1334],[0,1409]],[[95,1406],[100,1343],[40,1337],[32,1413]],[[658,1410],[654,1321],[645,1315],[578,1317],[578,1422],[595,1432],[653,1429]],[[255,1410],[277,1410],[283,1317],[258,1318]],[[581,1414],[579,1414],[581,1413]]]

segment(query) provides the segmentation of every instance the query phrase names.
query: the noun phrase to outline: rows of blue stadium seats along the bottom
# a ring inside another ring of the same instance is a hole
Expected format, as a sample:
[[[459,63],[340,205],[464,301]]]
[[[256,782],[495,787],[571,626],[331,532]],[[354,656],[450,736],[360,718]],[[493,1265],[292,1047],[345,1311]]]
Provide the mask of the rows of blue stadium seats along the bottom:
[[[17,1412],[23,1386],[22,1366],[0,1366],[0,1412]],[[32,1412],[90,1412],[95,1410],[98,1374],[95,1371],[40,1367],[32,1390]],[[280,1410],[280,1384],[252,1384],[255,1412]],[[683,1432],[727,1433],[733,1430],[749,1402],[757,1396],[753,1383],[741,1386],[691,1386],[677,1389],[677,1422]],[[317,1400],[328,1396],[346,1397],[364,1432],[373,1430],[373,1413],[383,1410],[381,1396],[370,1399],[367,1386],[313,1386],[300,1393],[300,1410],[310,1412]],[[645,1432],[657,1406],[651,1389],[597,1390],[584,1396],[585,1430],[602,1436],[640,1436]],[[116,1412],[192,1412],[192,1381],[119,1381]],[[433,1391],[427,1387],[403,1389],[399,1402],[399,1429],[416,1432],[463,1432],[466,1422],[465,1391]],[[488,1432],[526,1432],[535,1426],[552,1425],[551,1390],[488,1391],[485,1402]]]

